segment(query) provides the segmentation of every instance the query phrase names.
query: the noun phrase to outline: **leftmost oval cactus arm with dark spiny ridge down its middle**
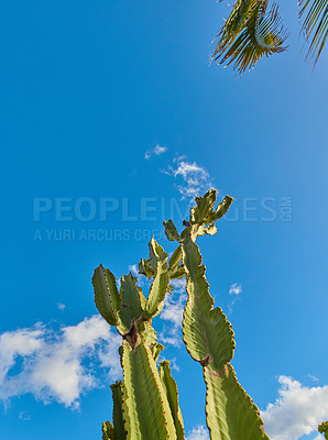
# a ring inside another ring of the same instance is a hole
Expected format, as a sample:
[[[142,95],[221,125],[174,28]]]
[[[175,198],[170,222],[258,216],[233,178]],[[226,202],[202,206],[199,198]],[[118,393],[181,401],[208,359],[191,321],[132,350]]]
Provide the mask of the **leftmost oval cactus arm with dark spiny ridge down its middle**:
[[[110,326],[120,323],[119,310],[122,302],[113,274],[100,264],[92,276],[95,302],[99,314]]]

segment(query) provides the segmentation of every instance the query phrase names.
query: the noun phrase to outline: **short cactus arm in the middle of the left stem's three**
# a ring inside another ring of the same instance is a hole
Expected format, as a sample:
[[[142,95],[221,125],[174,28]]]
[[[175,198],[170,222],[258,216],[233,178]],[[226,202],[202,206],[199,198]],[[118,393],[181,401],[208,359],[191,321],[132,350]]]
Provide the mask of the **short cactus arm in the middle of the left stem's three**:
[[[122,298],[120,318],[125,328],[131,329],[133,322],[142,316],[145,306],[142,290],[136,286],[136,278],[131,273],[122,276],[120,295]]]

